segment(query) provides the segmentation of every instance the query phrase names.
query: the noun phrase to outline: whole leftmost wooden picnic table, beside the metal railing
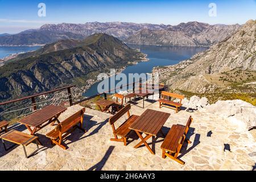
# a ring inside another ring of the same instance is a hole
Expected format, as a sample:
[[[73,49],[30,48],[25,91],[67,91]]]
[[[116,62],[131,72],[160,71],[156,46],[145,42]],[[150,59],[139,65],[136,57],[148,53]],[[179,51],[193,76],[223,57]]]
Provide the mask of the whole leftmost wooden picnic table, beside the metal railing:
[[[63,106],[49,105],[43,109],[35,111],[35,113],[32,113],[23,119],[20,119],[18,123],[25,125],[31,135],[35,135],[36,132],[50,123],[54,123],[55,121],[60,123],[58,118],[65,110],[67,110],[67,108]]]

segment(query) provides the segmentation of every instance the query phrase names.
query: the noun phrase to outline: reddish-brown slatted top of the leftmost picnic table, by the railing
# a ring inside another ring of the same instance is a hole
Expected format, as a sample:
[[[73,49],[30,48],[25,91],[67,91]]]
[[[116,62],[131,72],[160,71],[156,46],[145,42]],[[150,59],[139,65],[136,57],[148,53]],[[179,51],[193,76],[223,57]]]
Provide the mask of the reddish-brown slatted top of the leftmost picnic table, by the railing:
[[[56,115],[63,113],[65,110],[67,110],[67,108],[63,106],[49,105],[36,111],[35,113],[28,115],[23,119],[20,119],[18,123],[32,127],[38,127]]]

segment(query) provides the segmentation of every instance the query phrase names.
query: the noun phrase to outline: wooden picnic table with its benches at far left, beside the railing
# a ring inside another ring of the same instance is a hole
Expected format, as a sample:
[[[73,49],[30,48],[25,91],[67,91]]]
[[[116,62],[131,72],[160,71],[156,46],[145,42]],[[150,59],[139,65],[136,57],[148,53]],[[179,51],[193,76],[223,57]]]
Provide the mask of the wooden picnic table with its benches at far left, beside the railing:
[[[76,128],[85,131],[84,129],[82,129],[85,109],[77,111],[75,114],[72,114],[70,117],[60,122],[58,118],[60,114],[63,113],[65,110],[67,110],[67,108],[63,106],[48,105],[43,109],[36,110],[34,113],[27,115],[27,117],[20,119],[18,123],[26,126],[30,134],[23,133],[17,130],[7,131],[6,126],[8,125],[8,122],[0,122],[0,127],[5,127],[6,131],[5,134],[1,135],[2,143],[5,150],[7,151],[10,148],[13,148],[15,144],[19,144],[23,146],[26,158],[32,156],[33,154],[35,154],[35,152],[39,150],[38,145],[42,145],[39,138],[36,137],[35,134],[47,125],[51,124],[51,126],[53,126],[55,122],[57,122],[55,129],[47,133],[46,137],[51,140],[52,144],[57,144],[61,148],[66,149],[67,147],[63,145],[63,139],[68,134],[70,134]],[[79,124],[80,126],[78,126]],[[14,145],[6,148],[5,141],[14,143]],[[32,142],[36,143],[37,150],[32,152],[32,154],[27,155],[26,146]]]

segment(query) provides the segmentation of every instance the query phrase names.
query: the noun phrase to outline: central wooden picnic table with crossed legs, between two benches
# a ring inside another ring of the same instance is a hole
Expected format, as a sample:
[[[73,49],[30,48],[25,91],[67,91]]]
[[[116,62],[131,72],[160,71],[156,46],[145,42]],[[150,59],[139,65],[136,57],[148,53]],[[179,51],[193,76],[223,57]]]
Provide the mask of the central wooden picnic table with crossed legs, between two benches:
[[[142,115],[137,118],[136,121],[134,121],[134,123],[129,127],[129,129],[134,130],[141,139],[141,142],[135,145],[134,148],[138,148],[144,143],[151,154],[155,154],[150,146],[148,146],[146,140],[152,137],[153,144],[153,139],[156,137],[159,131],[165,135],[162,131],[162,127],[167,121],[168,117],[170,117],[170,114],[164,113],[162,111],[152,109],[147,109],[144,111],[144,113],[142,113]],[[141,133],[146,134],[146,137],[143,138]]]

